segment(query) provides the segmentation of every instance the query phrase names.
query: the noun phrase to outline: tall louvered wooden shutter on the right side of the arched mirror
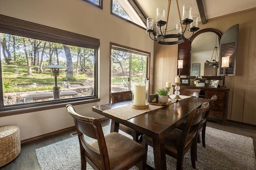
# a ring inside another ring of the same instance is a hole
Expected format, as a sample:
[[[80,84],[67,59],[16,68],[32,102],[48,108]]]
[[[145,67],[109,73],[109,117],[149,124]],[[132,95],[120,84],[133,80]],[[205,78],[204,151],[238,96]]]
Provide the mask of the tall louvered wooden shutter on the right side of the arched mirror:
[[[224,68],[221,67],[222,57],[229,57],[229,67],[225,68],[225,72],[228,76],[236,75],[236,55],[237,55],[237,43],[238,43],[238,29],[239,24],[230,27],[220,39],[220,62],[219,75],[224,75]]]

